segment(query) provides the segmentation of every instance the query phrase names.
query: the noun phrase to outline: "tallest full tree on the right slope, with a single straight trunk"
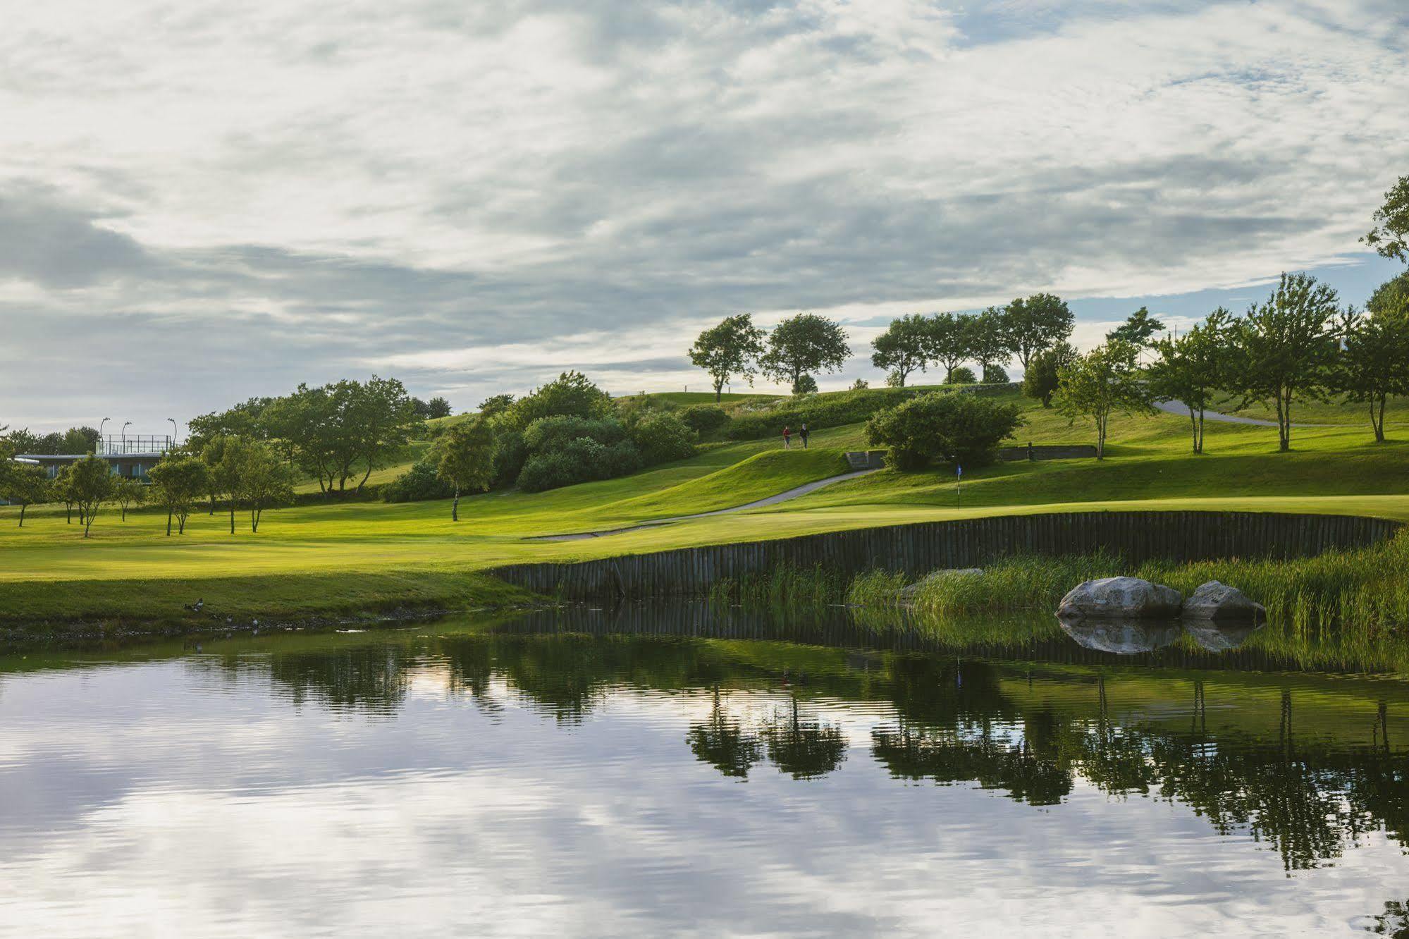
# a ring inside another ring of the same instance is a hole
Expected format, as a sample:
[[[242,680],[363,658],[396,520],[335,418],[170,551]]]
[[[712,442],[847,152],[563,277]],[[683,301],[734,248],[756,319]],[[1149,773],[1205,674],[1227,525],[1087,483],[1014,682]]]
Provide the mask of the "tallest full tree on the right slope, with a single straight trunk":
[[[1292,447],[1292,405],[1323,399],[1336,364],[1336,290],[1306,274],[1284,274],[1265,303],[1253,305],[1231,330],[1236,379],[1243,403],[1277,407],[1278,448]]]

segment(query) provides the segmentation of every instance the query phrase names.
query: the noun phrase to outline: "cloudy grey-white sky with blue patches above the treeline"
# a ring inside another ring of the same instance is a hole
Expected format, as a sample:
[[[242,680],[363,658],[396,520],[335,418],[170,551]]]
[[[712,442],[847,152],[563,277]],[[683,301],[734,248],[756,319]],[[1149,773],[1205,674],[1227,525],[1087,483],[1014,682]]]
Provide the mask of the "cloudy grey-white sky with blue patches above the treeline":
[[[1053,290],[1089,345],[1403,269],[1358,244],[1409,173],[1403,0],[8,7],[11,427],[372,374],[703,391],[743,312],[841,320],[830,389],[902,313]]]

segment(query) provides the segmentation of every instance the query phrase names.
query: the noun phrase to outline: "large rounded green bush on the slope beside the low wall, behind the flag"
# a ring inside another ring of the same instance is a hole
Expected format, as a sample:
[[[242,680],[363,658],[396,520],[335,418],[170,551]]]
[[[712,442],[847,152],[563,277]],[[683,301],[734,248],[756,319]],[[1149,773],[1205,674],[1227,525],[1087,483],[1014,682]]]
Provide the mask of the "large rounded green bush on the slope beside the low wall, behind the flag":
[[[867,440],[890,448],[890,465],[920,470],[934,461],[983,465],[1022,424],[1014,405],[975,395],[930,392],[867,422]]]

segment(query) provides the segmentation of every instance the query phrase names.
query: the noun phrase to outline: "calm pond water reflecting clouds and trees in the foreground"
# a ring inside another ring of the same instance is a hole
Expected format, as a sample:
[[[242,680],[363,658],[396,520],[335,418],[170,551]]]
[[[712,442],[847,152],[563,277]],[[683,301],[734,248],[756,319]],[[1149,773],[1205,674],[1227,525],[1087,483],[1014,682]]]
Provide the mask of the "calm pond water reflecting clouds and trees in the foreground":
[[[1406,744],[1403,677],[1246,633],[640,606],[0,651],[0,933],[1409,935]]]

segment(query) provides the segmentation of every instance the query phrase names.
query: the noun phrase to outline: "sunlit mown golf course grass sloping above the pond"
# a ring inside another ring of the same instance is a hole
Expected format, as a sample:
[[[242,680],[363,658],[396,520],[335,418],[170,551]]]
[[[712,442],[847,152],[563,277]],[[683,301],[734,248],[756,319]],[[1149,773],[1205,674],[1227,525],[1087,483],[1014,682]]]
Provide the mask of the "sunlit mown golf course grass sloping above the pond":
[[[1024,416],[1020,443],[1084,443],[1092,436],[1089,426],[1030,402]],[[1293,453],[1278,454],[1275,429],[1210,424],[1208,453],[1195,457],[1186,427],[1186,419],[1174,415],[1122,417],[1112,424],[1105,462],[967,467],[960,509],[947,470],[886,470],[766,509],[568,543],[524,539],[624,527],[774,495],[844,471],[840,451],[862,447],[862,429],[819,430],[807,451],[783,453],[771,438],[744,441],[619,479],[537,495],[478,495],[462,501],[459,524],[451,523],[447,502],[331,502],[266,512],[256,536],[242,519],[238,534],[230,536],[223,516],[196,515],[185,536],[168,539],[165,516],[148,509],[125,524],[107,512],[93,526],[93,539],[83,540],[76,523],[63,523],[62,509],[31,509],[21,530],[18,510],[0,508],[0,618],[156,618],[179,613],[201,594],[213,608],[242,612],[268,602],[271,609],[311,613],[395,605],[402,596],[440,596],[452,606],[478,602],[476,589],[492,599],[488,588],[462,584],[503,563],[995,513],[1236,509],[1409,520],[1409,431],[1392,429],[1399,440],[1375,444],[1368,427],[1298,430]]]

